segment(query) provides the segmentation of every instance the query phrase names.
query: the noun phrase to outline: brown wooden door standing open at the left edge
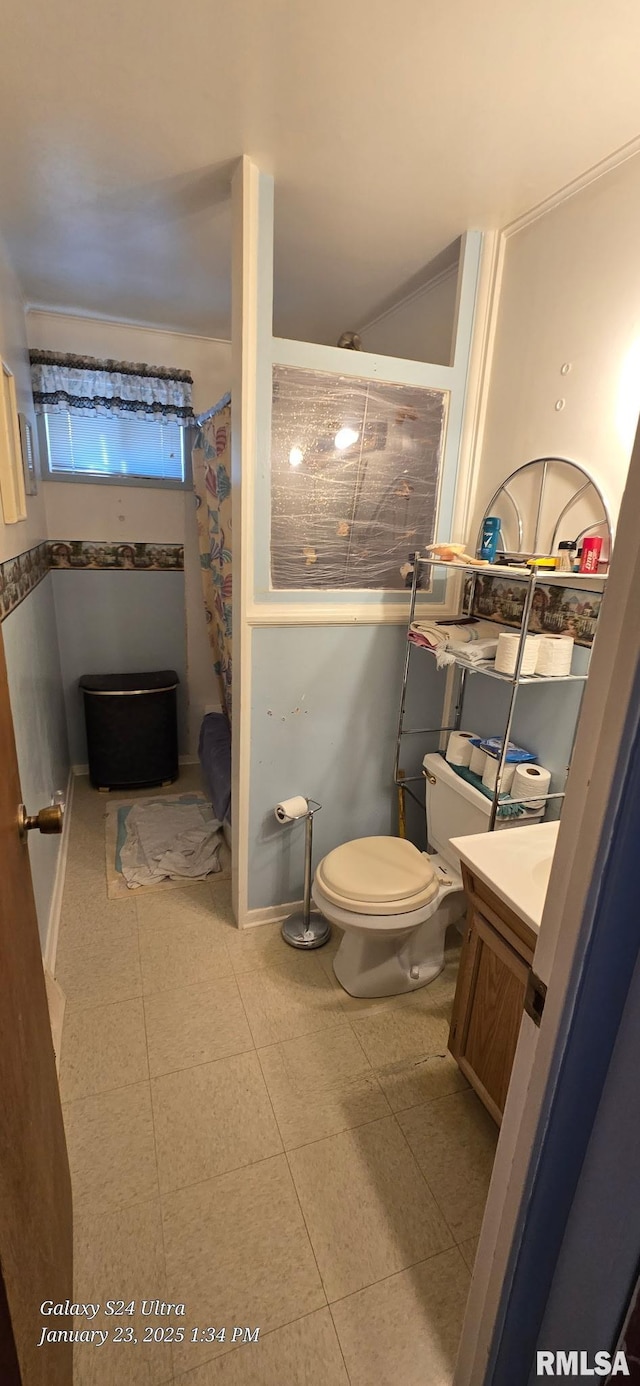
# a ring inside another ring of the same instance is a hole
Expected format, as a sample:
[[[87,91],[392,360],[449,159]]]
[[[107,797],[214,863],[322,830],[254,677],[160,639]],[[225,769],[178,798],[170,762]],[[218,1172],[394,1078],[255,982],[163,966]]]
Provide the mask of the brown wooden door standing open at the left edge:
[[[43,1300],[72,1299],[71,1179],[48,1023],[0,629],[0,1380],[71,1386],[72,1344],[46,1343]],[[42,805],[28,805],[40,808]]]

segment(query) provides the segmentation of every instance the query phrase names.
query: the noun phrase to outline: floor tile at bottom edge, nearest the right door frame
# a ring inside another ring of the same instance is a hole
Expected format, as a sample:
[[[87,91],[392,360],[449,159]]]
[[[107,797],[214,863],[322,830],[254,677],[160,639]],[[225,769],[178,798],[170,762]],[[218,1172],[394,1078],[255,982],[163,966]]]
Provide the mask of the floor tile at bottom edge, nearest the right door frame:
[[[450,1386],[468,1282],[453,1249],[332,1304],[350,1386]]]

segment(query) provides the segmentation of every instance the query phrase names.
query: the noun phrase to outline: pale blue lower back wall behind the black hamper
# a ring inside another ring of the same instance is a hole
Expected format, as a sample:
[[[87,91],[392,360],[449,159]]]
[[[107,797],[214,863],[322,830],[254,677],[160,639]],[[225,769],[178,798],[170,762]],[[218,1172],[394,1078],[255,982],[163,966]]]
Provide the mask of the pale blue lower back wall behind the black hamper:
[[[183,572],[51,574],[72,765],[85,765],[82,674],[176,669],[179,746],[187,748],[187,647]]]

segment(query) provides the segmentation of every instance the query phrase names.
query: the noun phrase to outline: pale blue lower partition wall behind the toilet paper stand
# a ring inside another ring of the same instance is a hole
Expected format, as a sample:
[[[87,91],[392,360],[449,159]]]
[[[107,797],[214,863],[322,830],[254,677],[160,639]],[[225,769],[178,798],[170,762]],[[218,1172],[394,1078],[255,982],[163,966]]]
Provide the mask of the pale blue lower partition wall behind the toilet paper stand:
[[[352,837],[398,826],[393,754],[406,628],[259,626],[252,632],[249,909],[299,900],[303,825],[283,827],[273,807],[292,794],[323,804],[314,861]],[[439,723],[445,679],[413,657],[407,726]],[[405,768],[435,739],[411,737]],[[411,815],[424,847],[424,818]]]

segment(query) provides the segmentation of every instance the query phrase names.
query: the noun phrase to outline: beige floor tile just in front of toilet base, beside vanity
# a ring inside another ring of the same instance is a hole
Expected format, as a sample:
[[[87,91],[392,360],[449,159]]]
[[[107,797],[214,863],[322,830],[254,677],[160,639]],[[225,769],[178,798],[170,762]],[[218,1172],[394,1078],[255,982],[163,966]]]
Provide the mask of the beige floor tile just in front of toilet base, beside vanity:
[[[403,1006],[349,1019],[374,1069],[431,1055],[446,1058],[449,1024],[434,1003],[427,1005],[416,992]]]

